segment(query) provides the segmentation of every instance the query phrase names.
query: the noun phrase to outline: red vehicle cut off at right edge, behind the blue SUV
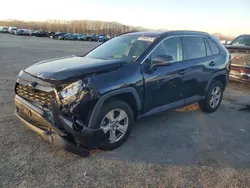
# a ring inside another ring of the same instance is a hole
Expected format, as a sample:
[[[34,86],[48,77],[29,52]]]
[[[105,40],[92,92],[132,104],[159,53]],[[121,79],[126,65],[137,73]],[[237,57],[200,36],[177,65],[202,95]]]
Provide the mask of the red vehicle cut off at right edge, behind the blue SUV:
[[[238,36],[226,48],[232,59],[230,79],[250,83],[250,34]]]

